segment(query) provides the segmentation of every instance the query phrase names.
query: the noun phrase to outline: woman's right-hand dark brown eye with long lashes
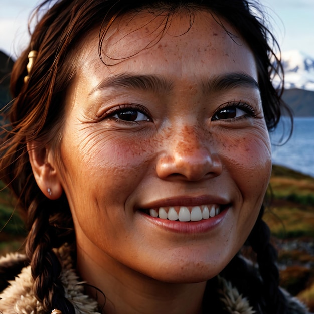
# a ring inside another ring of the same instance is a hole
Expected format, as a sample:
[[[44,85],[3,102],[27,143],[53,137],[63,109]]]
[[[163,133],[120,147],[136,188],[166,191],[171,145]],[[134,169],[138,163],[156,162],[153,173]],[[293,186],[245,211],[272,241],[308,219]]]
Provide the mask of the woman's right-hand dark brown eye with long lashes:
[[[244,116],[255,117],[254,109],[247,103],[228,103],[213,115],[212,120],[236,119]]]

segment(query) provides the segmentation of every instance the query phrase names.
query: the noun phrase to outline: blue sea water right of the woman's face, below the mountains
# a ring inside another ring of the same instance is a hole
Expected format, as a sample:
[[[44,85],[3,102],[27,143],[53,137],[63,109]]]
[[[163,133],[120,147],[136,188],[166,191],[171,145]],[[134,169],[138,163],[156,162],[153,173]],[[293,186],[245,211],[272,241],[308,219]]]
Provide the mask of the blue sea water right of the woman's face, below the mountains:
[[[314,177],[314,117],[294,118],[291,138],[278,145],[280,139],[286,141],[290,126],[289,119],[284,117],[276,130],[270,133],[273,164]]]

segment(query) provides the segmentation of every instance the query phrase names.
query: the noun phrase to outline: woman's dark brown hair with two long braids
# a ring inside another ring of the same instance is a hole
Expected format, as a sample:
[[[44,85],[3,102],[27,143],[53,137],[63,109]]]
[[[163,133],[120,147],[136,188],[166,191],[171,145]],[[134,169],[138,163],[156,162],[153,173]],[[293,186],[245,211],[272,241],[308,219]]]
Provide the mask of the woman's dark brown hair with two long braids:
[[[282,86],[279,91],[275,90],[271,76],[282,74],[282,66],[270,46],[276,46],[277,43],[265,27],[262,15],[254,15],[256,8],[247,0],[141,0],[136,4],[129,0],[60,0],[53,5],[49,0],[44,1],[34,14],[39,15],[40,19],[32,32],[30,44],[13,68],[11,93],[14,99],[8,106],[10,125],[3,131],[5,137],[0,147],[0,169],[2,180],[14,191],[19,206],[27,212],[29,235],[26,254],[35,281],[34,293],[46,311],[51,311],[58,305],[58,309],[64,314],[75,312],[64,295],[59,279],[61,265],[53,251],[66,242],[75,243],[75,235],[66,196],[51,200],[37,186],[27,143],[36,141],[42,147],[50,145],[56,151],[58,159],[64,96],[75,77],[76,47],[89,31],[97,27],[100,29],[99,55],[102,58],[101,45],[105,43],[106,32],[117,16],[151,6],[164,6],[171,12],[171,9],[178,9],[178,4],[194,4],[199,8],[207,8],[237,29],[255,55],[268,129],[273,129],[279,121],[284,106],[280,100]],[[42,14],[43,9],[45,14]],[[32,50],[36,50],[38,55],[29,73],[29,80],[25,83],[24,77],[28,75],[28,53]],[[273,63],[272,59],[276,62]],[[263,210],[248,239],[257,253],[261,276],[261,279],[252,276],[252,280],[259,284],[261,292],[260,297],[253,295],[252,299],[257,304],[257,309],[261,308],[267,313],[284,313],[283,296],[278,289],[276,256],[269,242],[269,229],[262,221],[262,214]],[[236,256],[224,272],[228,274],[233,267],[243,268],[243,265],[240,257]],[[211,283],[214,284],[214,280]]]

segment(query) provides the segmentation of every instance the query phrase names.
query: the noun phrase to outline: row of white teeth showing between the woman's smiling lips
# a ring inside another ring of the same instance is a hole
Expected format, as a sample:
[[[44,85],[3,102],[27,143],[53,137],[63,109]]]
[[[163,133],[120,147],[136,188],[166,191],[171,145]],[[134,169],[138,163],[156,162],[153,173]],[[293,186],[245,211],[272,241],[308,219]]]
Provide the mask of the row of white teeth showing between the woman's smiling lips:
[[[220,214],[228,205],[201,205],[201,206],[170,206],[150,208],[144,212],[154,218],[168,219],[171,221],[200,221],[203,219],[210,219]]]

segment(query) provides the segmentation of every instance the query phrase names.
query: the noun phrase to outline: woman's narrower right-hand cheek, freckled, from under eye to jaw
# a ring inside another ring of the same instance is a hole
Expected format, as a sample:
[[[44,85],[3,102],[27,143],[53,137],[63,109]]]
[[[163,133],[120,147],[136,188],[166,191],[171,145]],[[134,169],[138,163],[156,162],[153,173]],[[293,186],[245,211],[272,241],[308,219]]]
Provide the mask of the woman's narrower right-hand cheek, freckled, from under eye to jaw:
[[[237,202],[230,222],[235,246],[242,245],[261,209],[271,174],[268,133],[250,131],[229,137],[221,156],[229,178],[235,184]],[[239,249],[240,247],[237,247]]]

